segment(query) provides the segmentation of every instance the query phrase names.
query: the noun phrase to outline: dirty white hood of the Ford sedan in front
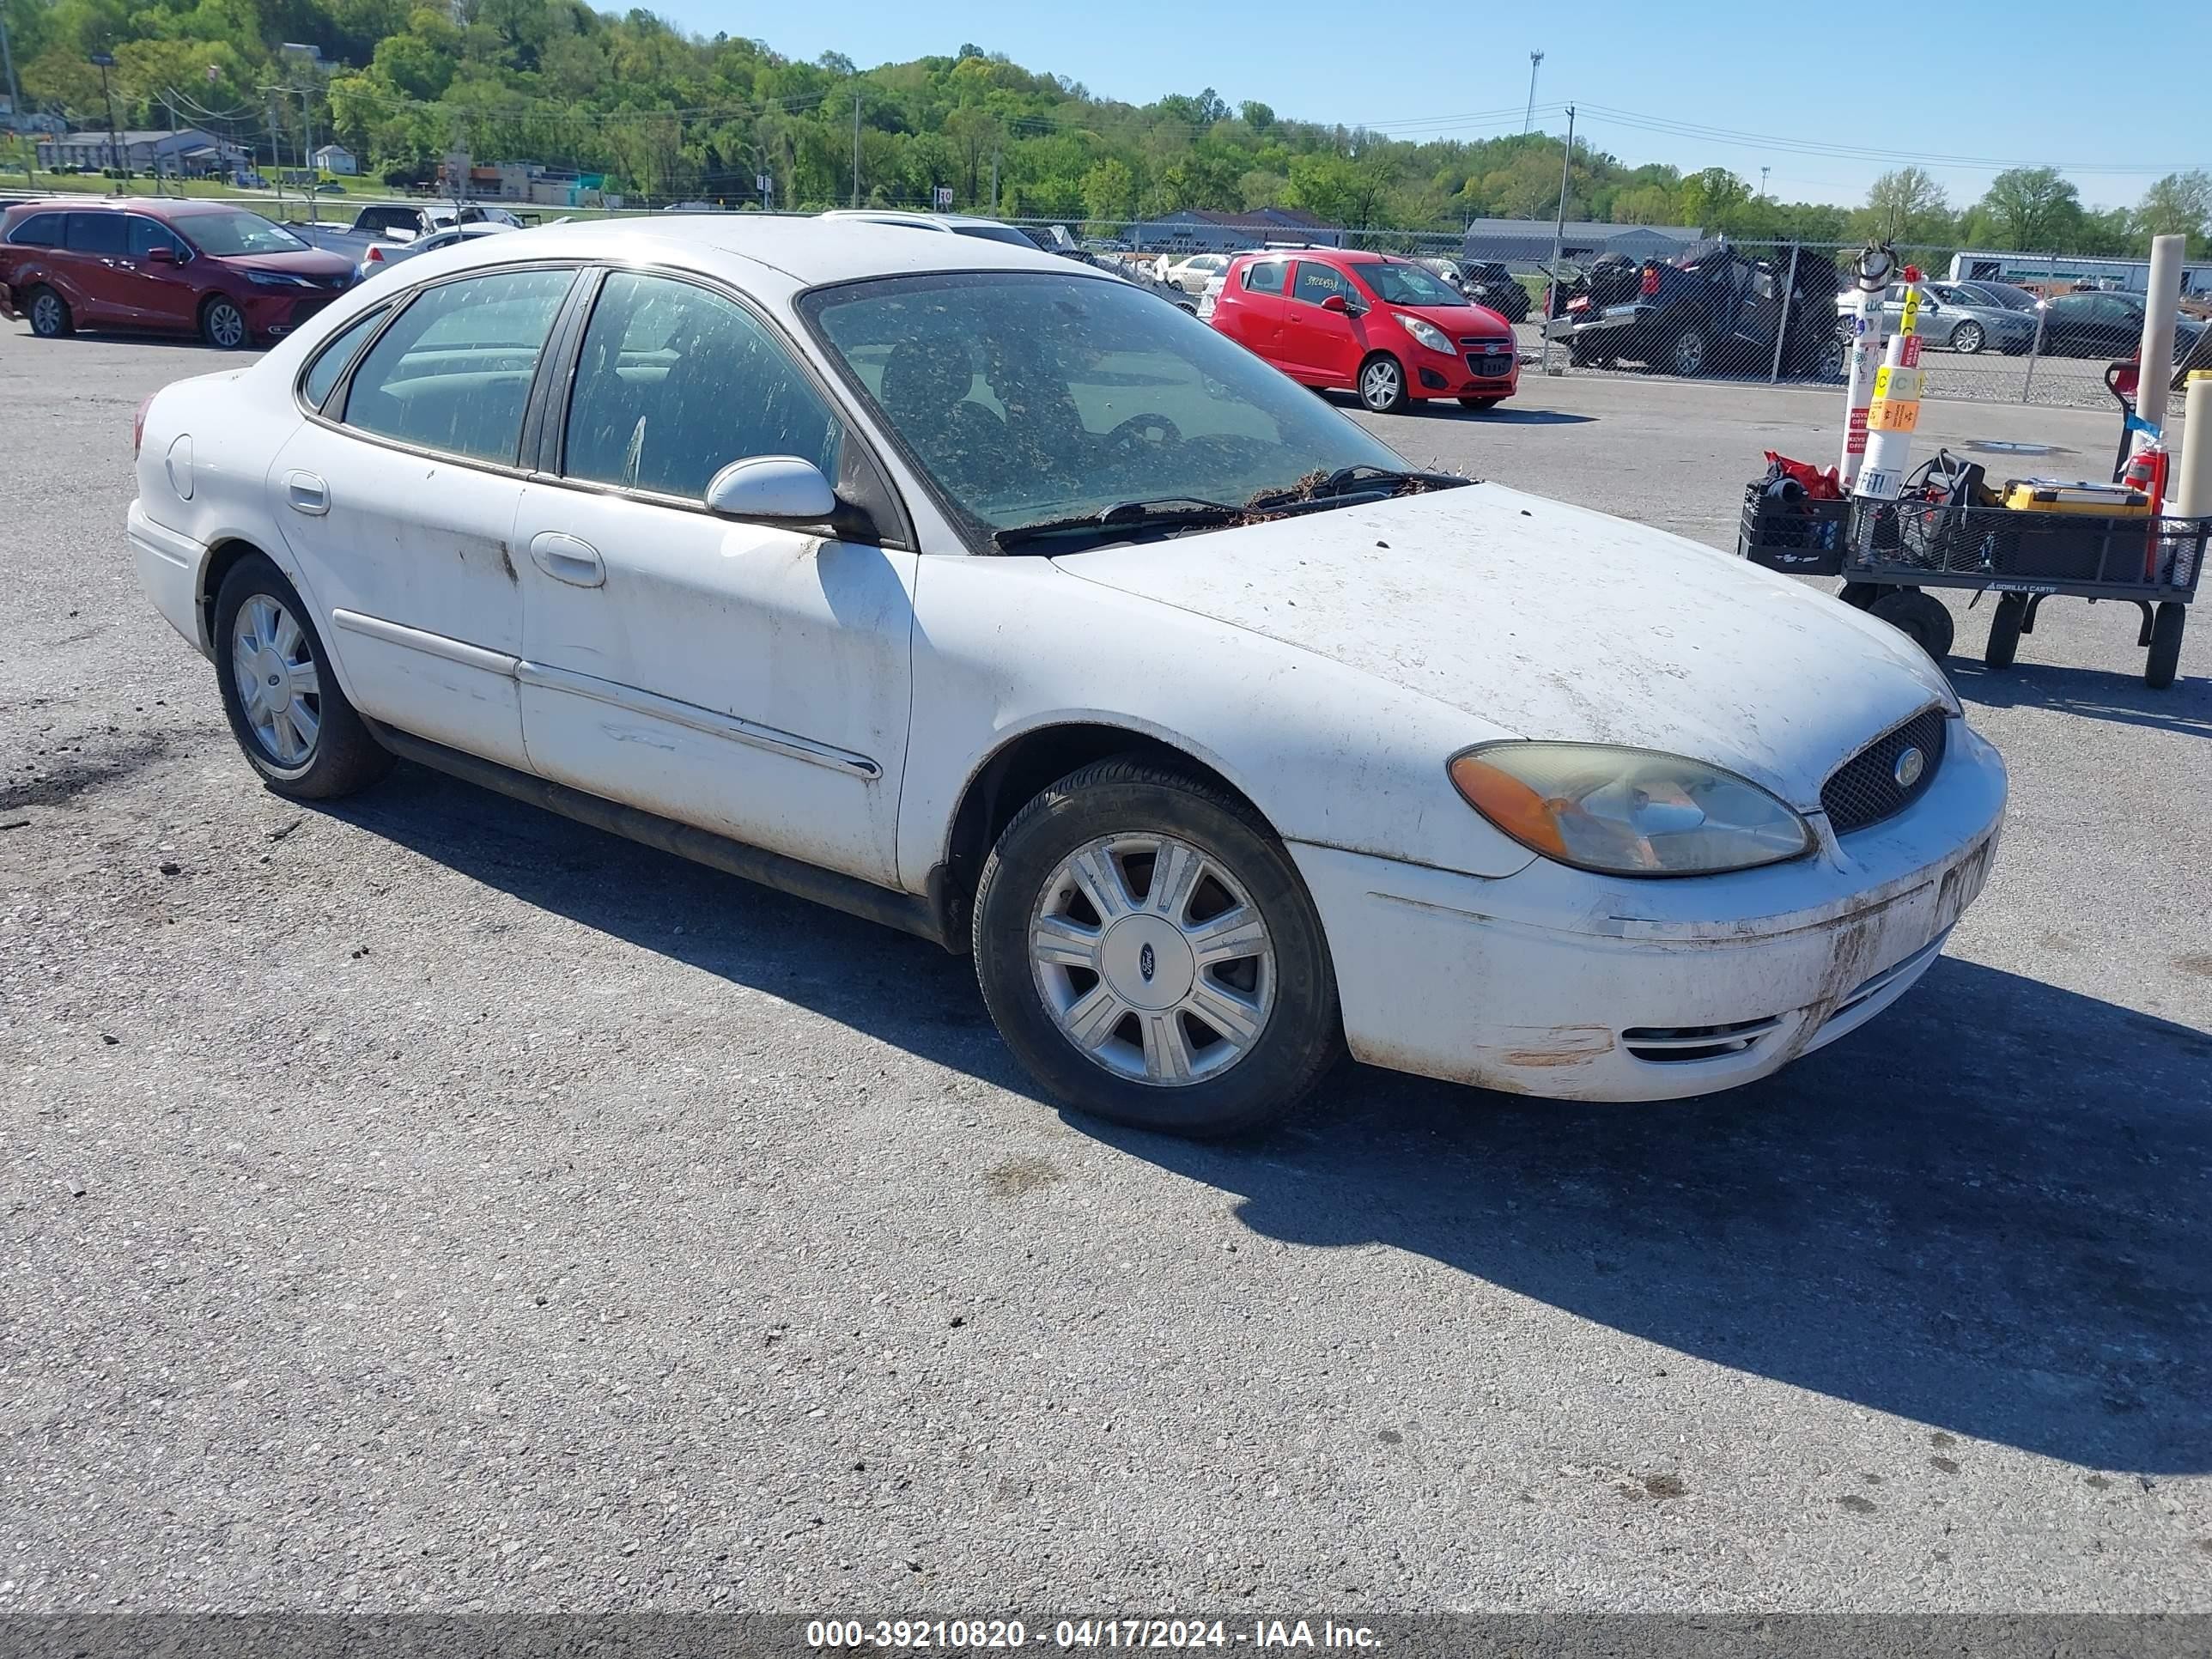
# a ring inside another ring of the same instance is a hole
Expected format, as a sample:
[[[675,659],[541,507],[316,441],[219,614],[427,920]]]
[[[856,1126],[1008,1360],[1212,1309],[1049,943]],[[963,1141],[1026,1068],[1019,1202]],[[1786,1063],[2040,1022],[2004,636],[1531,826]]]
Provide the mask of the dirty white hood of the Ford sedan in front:
[[[1495,737],[1688,754],[1796,807],[1942,672],[1896,628],[1666,531],[1473,484],[1055,564],[1312,650]]]

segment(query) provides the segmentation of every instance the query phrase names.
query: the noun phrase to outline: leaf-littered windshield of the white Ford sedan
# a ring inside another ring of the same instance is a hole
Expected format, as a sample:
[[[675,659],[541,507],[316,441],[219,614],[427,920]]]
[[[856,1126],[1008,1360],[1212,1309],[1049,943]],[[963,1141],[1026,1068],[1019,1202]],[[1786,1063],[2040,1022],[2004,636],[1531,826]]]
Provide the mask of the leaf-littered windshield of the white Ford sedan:
[[[982,540],[1128,502],[1241,507],[1405,460],[1192,316],[1053,272],[885,276],[803,314]]]

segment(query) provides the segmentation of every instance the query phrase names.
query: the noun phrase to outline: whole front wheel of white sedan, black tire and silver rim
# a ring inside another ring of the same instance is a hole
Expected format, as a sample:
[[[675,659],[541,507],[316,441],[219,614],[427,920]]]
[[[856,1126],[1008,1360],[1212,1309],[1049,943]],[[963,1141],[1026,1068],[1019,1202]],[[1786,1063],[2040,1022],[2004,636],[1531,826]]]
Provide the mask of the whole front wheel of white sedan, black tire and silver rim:
[[[1183,898],[1157,909],[1164,865],[1192,860]],[[1256,922],[1230,922],[1228,949],[1256,949],[1199,964],[1203,931],[1237,911]],[[1097,761],[1022,807],[982,867],[973,947],[1015,1060],[1115,1124],[1243,1135],[1305,1099],[1343,1048],[1321,916],[1283,845],[1252,807],[1168,765]]]

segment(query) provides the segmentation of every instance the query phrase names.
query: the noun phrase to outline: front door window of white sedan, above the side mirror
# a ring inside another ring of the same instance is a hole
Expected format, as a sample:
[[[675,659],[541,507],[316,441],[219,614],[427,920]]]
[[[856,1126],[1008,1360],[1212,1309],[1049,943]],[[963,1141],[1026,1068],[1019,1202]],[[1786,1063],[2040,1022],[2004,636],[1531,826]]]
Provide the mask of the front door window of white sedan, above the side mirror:
[[[568,398],[568,478],[701,500],[750,456],[799,456],[836,478],[841,438],[821,392],[741,305],[668,276],[606,279]]]

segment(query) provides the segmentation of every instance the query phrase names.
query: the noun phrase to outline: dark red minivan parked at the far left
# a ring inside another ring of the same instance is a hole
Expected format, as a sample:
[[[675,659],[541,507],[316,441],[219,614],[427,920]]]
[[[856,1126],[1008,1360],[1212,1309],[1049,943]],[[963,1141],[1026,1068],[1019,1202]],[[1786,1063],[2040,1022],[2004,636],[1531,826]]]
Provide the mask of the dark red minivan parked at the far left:
[[[0,215],[0,316],[42,338],[75,327],[290,334],[354,285],[354,263],[228,201],[24,201]]]

